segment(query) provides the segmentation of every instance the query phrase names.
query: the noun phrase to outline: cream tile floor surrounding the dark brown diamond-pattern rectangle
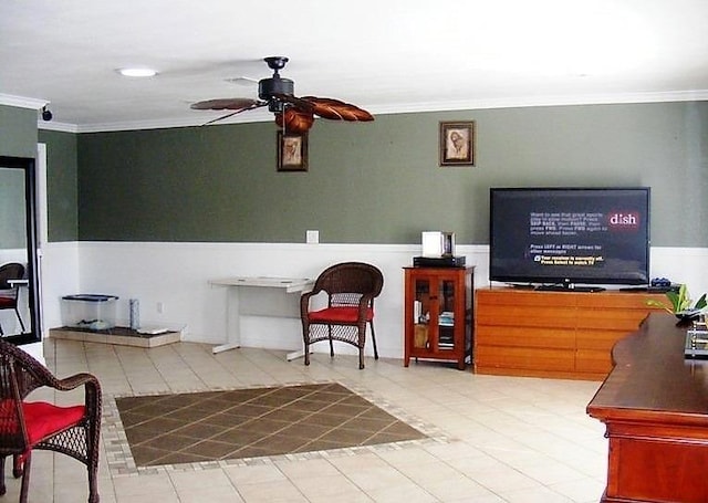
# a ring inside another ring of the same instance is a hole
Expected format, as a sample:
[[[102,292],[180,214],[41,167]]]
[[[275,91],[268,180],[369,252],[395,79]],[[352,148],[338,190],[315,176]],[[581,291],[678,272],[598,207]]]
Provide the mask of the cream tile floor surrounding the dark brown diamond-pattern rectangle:
[[[254,502],[597,502],[605,483],[603,426],[585,415],[598,383],[476,376],[436,363],[315,354],[312,365],[285,352],[241,348],[211,354],[178,343],[143,349],[45,340],[60,377],[95,374],[104,394],[102,503]],[[428,441],[238,460],[235,463],[135,469],[115,397],[305,383],[341,383],[394,415],[417,421]],[[59,402],[77,395],[61,394]],[[37,398],[52,399],[44,392]],[[11,463],[8,463],[11,464]],[[86,501],[85,470],[60,454],[33,457],[30,502]],[[18,499],[19,481],[8,478]]]

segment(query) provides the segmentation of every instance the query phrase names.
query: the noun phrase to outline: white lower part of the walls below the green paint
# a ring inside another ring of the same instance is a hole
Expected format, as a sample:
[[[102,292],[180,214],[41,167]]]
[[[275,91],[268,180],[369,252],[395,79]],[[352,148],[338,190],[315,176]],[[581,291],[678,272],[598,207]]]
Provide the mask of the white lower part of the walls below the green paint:
[[[476,285],[488,284],[488,247],[457,245],[457,254],[476,265]],[[117,322],[128,323],[128,300],[140,302],[144,325],[185,326],[185,339],[220,344],[226,337],[226,290],[210,279],[240,275],[316,277],[324,268],[363,261],[384,273],[376,301],[381,356],[403,357],[403,266],[420,254],[419,245],[273,243],[50,243],[43,250],[44,326],[62,325],[61,297],[75,293],[119,296]],[[698,296],[708,292],[708,249],[654,248],[652,277],[687,283]],[[163,312],[158,312],[158,303]],[[242,344],[296,349],[298,321],[247,318]],[[353,348],[351,348],[353,350]],[[316,350],[316,346],[315,346]],[[324,350],[324,347],[322,348]],[[341,347],[339,352],[350,352]],[[371,346],[367,345],[371,354]]]

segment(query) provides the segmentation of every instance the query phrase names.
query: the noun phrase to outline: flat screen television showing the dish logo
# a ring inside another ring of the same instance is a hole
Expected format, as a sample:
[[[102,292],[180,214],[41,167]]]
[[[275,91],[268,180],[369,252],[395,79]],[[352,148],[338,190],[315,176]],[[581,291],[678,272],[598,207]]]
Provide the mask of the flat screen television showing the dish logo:
[[[649,197],[648,187],[490,189],[489,279],[546,290],[648,285]]]

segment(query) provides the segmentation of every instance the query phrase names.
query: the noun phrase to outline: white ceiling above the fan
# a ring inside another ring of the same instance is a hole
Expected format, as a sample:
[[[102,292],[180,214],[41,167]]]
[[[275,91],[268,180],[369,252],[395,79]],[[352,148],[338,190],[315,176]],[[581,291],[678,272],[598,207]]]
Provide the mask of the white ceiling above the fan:
[[[50,128],[202,124],[189,104],[257,97],[226,80],[269,55],[295,95],[373,114],[708,99],[708,1],[0,1],[0,104],[49,102]]]

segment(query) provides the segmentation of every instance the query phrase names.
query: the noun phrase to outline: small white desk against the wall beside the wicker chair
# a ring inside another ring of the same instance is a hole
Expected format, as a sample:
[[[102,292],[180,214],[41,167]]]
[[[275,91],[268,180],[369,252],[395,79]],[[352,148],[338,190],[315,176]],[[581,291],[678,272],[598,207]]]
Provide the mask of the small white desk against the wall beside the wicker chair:
[[[300,295],[312,290],[314,281],[294,277],[241,276],[210,280],[210,285],[226,286],[226,343],[212,352],[221,353],[241,346],[241,315],[300,318]],[[293,295],[295,294],[295,295]],[[288,361],[303,356],[288,354]]]

